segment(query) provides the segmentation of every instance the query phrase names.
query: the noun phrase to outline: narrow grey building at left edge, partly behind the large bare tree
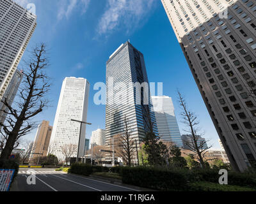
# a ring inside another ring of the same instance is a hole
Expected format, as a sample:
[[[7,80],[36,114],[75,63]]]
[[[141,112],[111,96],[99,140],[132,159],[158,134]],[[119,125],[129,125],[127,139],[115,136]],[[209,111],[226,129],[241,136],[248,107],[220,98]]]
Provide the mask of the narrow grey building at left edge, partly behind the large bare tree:
[[[5,100],[6,98],[6,101],[10,106],[12,106],[13,100],[17,94],[20,82],[22,81],[22,77],[23,77],[22,72],[19,71],[19,69],[16,69],[12,77],[12,80],[10,81],[10,84],[8,85],[6,91],[4,92],[3,100]],[[4,120],[6,119],[6,115],[7,115],[1,110],[4,110],[4,112],[9,111],[9,109],[0,101],[0,129],[1,129],[1,123],[4,123]]]

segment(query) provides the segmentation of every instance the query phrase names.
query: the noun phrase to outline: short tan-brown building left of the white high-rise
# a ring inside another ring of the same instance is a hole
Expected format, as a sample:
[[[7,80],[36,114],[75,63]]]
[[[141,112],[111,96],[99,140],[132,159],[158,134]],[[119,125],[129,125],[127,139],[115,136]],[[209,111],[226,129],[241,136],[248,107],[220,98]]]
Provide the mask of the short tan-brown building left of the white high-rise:
[[[51,135],[52,126],[49,126],[49,121],[44,120],[41,124],[38,125],[33,144],[32,154],[29,157],[30,160],[38,156],[47,156]]]

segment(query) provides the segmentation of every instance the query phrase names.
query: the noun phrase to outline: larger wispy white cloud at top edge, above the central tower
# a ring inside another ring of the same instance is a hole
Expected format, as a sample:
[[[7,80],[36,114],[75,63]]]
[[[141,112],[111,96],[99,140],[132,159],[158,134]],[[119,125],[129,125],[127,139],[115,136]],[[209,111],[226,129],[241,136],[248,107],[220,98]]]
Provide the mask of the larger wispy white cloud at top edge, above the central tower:
[[[100,18],[97,31],[109,33],[119,25],[126,29],[137,27],[145,20],[156,0],[108,0],[108,6]]]

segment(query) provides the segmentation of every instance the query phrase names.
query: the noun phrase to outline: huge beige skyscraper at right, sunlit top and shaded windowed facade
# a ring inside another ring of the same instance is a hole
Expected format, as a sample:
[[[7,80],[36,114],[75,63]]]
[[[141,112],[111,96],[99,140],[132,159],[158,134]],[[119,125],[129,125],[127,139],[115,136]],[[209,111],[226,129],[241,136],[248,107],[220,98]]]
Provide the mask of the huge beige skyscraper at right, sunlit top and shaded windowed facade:
[[[162,0],[230,163],[256,158],[256,3]]]

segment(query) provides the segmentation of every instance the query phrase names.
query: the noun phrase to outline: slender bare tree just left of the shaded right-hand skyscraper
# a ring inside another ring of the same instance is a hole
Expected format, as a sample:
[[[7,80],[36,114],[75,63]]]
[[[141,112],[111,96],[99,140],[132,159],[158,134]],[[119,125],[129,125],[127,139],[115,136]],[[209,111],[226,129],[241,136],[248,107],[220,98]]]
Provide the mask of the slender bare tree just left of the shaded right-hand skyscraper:
[[[184,131],[191,135],[191,140],[187,141],[186,145],[188,145],[189,149],[195,153],[196,159],[198,159],[200,165],[202,168],[204,168],[207,161],[207,159],[205,159],[205,154],[211,147],[207,147],[206,140],[201,140],[202,133],[200,133],[200,128],[198,128],[199,122],[195,113],[188,109],[188,105],[186,104],[184,97],[182,94],[180,94],[179,91],[178,95],[180,107],[182,108],[181,115],[183,117],[183,123],[187,127],[187,129],[184,129]]]

